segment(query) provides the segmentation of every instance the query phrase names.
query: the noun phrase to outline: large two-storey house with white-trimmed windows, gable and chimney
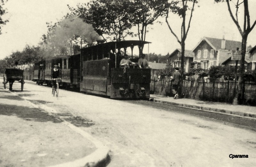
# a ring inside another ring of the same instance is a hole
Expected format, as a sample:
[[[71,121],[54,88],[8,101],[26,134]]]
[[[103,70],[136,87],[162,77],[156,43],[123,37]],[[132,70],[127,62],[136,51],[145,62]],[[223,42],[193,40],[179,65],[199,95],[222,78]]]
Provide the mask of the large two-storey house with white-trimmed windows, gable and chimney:
[[[238,41],[203,37],[192,50],[195,53],[194,62],[200,63],[201,68],[209,69],[218,66],[231,57],[232,52],[241,51],[242,43]]]

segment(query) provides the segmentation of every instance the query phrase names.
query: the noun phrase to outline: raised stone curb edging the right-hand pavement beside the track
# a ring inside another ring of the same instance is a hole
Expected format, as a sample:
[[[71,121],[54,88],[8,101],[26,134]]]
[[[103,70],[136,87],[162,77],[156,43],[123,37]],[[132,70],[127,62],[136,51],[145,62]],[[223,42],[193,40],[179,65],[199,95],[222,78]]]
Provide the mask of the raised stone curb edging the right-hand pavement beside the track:
[[[150,98],[149,101],[159,102],[159,103],[164,103],[164,104],[169,104],[169,105],[175,105],[175,106],[180,106],[180,107],[194,108],[194,109],[202,110],[202,111],[214,111],[214,112],[218,112],[218,113],[227,113],[227,114],[239,115],[239,116],[244,116],[244,117],[249,117],[249,118],[254,118],[254,119],[256,118],[256,114],[249,114],[249,113],[239,112],[239,111],[231,111],[231,110],[203,107],[203,106],[200,106],[200,105],[180,104],[180,103],[176,103],[176,102],[167,102],[167,101],[162,101],[162,100],[155,100],[154,98]]]

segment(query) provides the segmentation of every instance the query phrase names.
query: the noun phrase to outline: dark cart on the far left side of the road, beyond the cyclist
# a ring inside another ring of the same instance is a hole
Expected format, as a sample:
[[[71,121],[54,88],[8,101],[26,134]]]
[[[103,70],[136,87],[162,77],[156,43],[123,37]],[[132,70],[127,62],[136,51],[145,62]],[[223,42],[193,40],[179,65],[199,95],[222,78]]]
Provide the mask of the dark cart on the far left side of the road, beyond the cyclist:
[[[9,82],[9,89],[12,90],[12,84],[14,81],[18,81],[21,83],[21,91],[23,91],[25,83],[23,77],[23,70],[6,68],[3,82],[4,89],[6,89],[6,84]]]

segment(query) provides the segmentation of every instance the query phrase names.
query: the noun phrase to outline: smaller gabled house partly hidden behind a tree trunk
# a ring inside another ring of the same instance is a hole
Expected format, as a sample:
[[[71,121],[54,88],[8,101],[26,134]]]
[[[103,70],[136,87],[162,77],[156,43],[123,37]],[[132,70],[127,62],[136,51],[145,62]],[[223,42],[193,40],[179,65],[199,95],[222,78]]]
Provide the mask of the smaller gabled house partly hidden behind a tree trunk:
[[[181,49],[175,49],[170,56],[168,57],[171,61],[173,68],[180,67],[181,62]],[[191,50],[185,50],[185,62],[184,62],[184,71],[188,72],[190,69],[190,62],[193,62],[194,53]]]

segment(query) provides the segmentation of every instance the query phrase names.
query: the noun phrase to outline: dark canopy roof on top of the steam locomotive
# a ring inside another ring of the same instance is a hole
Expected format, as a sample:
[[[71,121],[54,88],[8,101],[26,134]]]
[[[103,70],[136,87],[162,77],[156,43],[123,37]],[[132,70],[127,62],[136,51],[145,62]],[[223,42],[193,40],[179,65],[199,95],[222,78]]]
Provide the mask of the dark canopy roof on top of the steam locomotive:
[[[141,41],[141,44],[148,44],[151,42],[147,42],[147,41]],[[94,46],[90,46],[87,48],[82,48],[82,50],[86,50],[86,49],[96,49],[97,47],[106,47],[106,48],[127,48],[127,47],[131,47],[131,46],[138,46],[140,45],[140,41],[137,40],[129,40],[129,41],[114,41],[114,42],[106,42],[106,43],[101,43],[98,45],[94,45]]]

